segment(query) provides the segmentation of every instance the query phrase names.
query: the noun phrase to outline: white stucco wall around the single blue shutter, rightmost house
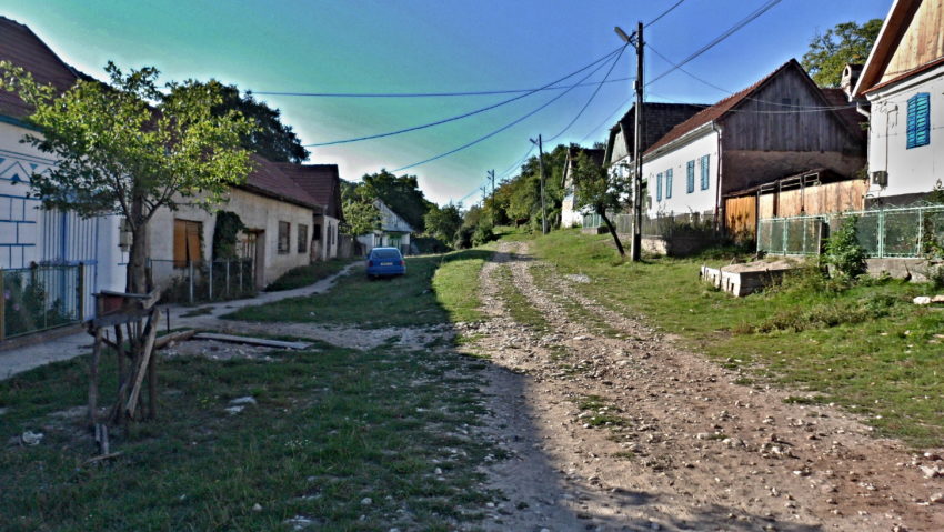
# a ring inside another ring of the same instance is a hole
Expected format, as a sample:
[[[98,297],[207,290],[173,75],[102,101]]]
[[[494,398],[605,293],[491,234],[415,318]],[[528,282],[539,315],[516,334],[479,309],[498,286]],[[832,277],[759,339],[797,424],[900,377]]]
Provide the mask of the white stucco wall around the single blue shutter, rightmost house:
[[[931,94],[931,142],[907,149],[907,101]],[[888,172],[887,187],[871,185],[868,199],[928,192],[944,181],[944,66],[868,96],[868,171]]]

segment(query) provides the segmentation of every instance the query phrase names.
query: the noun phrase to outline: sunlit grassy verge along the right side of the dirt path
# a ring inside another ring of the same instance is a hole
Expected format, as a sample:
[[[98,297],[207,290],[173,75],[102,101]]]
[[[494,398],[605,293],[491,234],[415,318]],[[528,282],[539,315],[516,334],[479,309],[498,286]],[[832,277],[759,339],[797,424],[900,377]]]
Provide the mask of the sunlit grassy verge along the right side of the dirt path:
[[[726,264],[736,250],[633,264],[609,241],[558,231],[532,249],[560,273],[591,278],[575,290],[742,368],[744,382],[816,393],[916,446],[944,438],[944,310],[911,304],[930,287],[884,280],[848,288],[806,272],[779,289],[733,298],[702,284],[697,269]]]

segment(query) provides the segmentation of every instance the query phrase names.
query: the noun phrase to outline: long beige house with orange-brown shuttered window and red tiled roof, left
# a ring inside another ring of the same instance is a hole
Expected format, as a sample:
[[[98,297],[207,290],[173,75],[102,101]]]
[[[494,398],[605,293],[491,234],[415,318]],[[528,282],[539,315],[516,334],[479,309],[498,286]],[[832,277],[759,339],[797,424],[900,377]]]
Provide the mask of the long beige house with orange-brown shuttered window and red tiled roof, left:
[[[257,288],[264,288],[292,268],[311,262],[317,203],[280,164],[252,155],[244,184],[230,189],[219,211],[237,214],[245,229],[239,235],[240,259],[252,262]],[[161,209],[148,227],[151,278],[159,288],[183,273],[189,263],[213,260],[218,212],[181,205]]]

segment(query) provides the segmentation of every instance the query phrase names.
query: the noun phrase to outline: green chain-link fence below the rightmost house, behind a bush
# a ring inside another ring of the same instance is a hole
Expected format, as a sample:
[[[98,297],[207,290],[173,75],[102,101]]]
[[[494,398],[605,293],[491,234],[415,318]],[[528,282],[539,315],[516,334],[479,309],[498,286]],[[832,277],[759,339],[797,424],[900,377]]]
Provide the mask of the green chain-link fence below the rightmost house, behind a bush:
[[[944,205],[915,205],[763,219],[757,224],[757,251],[819,254],[830,231],[852,220],[858,243],[870,258],[921,258],[930,249],[944,248]]]

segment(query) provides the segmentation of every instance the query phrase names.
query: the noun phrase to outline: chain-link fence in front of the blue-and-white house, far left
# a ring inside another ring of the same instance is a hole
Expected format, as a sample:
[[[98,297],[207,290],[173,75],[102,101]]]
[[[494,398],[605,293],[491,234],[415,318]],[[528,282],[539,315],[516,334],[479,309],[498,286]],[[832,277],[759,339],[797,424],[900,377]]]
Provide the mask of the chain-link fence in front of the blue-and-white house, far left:
[[[0,340],[82,321],[82,265],[0,270]]]

